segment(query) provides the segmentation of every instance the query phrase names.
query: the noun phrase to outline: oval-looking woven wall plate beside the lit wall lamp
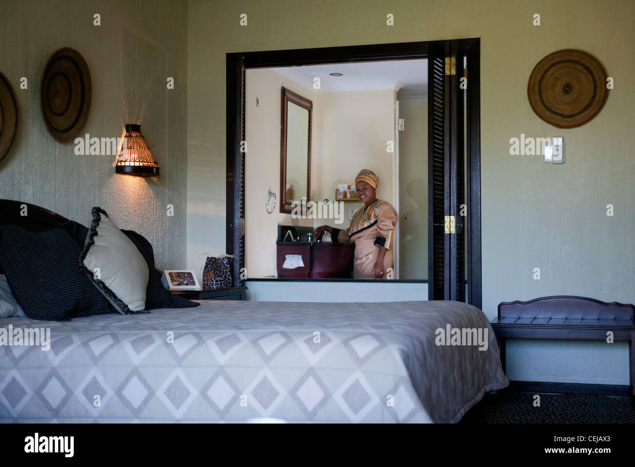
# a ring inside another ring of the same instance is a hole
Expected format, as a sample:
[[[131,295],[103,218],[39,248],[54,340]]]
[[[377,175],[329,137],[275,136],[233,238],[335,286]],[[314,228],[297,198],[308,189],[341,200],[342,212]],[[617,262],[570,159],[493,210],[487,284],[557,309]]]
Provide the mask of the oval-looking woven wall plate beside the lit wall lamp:
[[[90,111],[91,83],[86,60],[72,48],[62,48],[48,59],[40,86],[44,124],[60,142],[73,140]]]

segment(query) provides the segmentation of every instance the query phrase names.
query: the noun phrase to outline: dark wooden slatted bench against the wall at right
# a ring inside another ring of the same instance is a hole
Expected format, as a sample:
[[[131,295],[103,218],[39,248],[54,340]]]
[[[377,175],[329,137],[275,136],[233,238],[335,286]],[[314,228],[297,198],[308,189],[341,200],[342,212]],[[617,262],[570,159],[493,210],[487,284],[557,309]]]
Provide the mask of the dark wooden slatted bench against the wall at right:
[[[505,370],[505,339],[591,339],[629,342],[629,396],[635,406],[635,306],[560,295],[498,305],[491,323]]]

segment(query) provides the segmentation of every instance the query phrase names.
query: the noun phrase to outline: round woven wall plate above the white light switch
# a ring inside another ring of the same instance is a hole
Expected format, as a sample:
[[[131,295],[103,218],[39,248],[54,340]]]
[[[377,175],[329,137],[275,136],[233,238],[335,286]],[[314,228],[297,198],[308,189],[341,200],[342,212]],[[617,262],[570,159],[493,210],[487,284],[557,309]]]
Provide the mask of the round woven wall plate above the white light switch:
[[[527,97],[537,116],[558,128],[575,128],[594,118],[608,96],[606,71],[586,52],[558,50],[533,68]]]

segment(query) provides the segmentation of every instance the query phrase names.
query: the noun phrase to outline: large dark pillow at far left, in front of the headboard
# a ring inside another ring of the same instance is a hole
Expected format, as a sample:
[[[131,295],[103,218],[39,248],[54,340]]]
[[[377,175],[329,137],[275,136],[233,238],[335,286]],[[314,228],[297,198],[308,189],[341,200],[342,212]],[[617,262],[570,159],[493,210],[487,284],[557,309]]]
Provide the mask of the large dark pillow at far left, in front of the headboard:
[[[13,296],[32,320],[116,313],[77,267],[80,254],[64,227],[34,233],[0,226],[0,264]]]

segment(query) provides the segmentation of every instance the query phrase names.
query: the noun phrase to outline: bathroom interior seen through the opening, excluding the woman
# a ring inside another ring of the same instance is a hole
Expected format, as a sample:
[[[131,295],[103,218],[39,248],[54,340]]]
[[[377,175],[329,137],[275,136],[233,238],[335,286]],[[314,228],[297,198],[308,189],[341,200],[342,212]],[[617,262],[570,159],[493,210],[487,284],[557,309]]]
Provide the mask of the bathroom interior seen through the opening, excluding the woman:
[[[426,59],[248,69],[245,102],[250,279],[352,280],[352,245],[313,232],[349,226],[368,168],[399,213],[394,278],[427,280]]]

